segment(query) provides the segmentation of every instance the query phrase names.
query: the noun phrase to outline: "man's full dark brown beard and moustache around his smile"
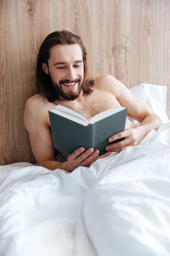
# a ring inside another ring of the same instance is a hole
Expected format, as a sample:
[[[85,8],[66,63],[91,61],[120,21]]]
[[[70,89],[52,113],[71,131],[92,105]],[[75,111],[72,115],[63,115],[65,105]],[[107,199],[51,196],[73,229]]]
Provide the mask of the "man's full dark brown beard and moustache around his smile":
[[[62,97],[62,99],[66,100],[66,101],[74,101],[75,99],[77,99],[79,97],[80,92],[82,91],[82,84],[81,79],[77,78],[74,81],[70,81],[68,79],[66,80],[60,80],[59,85],[57,83],[55,83],[52,79],[52,76],[49,72],[49,79],[51,82],[51,85],[53,87],[53,90],[55,91],[54,93],[57,95],[57,98],[59,99],[59,97]],[[68,90],[68,92],[64,92],[64,90],[62,89],[62,83],[78,83],[78,88],[77,91],[73,91],[73,90]]]

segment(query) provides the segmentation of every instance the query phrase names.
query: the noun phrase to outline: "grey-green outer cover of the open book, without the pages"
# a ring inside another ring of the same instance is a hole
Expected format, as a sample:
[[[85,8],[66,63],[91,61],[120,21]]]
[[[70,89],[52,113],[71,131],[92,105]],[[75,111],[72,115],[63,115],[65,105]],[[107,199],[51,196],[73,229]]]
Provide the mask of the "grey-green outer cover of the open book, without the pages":
[[[75,121],[49,111],[53,146],[68,155],[83,146],[86,149],[99,150],[99,155],[107,153],[105,147],[113,142],[108,138],[117,132],[124,131],[127,108],[122,108],[95,124],[84,126]]]

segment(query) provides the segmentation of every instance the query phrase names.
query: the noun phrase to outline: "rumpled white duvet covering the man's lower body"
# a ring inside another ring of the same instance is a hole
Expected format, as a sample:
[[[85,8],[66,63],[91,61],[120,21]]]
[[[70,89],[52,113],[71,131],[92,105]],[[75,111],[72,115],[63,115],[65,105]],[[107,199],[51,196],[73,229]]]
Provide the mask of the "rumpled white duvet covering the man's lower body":
[[[170,256],[170,122],[73,173],[0,166],[0,256]]]

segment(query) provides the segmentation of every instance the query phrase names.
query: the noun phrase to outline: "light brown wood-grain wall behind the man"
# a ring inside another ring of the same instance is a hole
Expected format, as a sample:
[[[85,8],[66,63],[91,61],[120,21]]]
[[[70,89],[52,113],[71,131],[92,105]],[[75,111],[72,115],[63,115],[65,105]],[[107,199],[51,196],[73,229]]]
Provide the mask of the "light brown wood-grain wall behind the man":
[[[170,118],[170,0],[0,0],[1,165],[35,162],[24,105],[35,94],[40,43],[62,29],[82,37],[92,77],[166,85]]]

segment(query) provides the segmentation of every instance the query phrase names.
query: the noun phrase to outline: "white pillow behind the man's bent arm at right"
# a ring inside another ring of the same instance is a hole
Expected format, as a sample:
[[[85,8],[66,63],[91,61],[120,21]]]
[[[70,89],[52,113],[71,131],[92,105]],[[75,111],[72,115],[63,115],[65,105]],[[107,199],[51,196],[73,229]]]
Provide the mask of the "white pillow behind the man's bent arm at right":
[[[137,99],[145,102],[164,123],[169,121],[166,115],[166,86],[141,83],[129,89],[130,93]],[[132,122],[139,125],[139,122],[128,117]]]

